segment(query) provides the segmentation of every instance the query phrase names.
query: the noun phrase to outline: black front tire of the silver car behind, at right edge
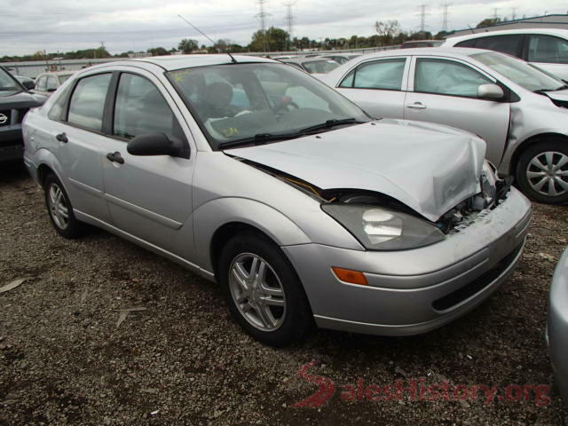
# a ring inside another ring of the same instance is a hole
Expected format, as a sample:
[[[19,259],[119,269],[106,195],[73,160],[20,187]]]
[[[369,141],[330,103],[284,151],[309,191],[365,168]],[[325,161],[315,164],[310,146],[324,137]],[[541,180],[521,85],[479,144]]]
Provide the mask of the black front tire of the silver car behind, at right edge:
[[[546,165],[546,153],[556,153],[553,155],[553,162],[557,162],[562,155],[568,156],[568,142],[562,139],[548,139],[526,148],[525,151],[520,155],[517,162],[517,168],[515,170],[517,186],[523,193],[525,193],[527,197],[529,197],[533,201],[544,202],[547,204],[564,204],[568,202],[568,190],[564,190],[564,193],[561,193],[562,186],[558,183],[555,183],[554,190],[558,193],[558,195],[553,195],[553,191],[549,189],[550,183],[549,181],[547,181],[541,187],[541,192],[539,192],[533,187],[533,185],[539,183],[541,179],[540,176],[533,177],[532,179],[527,176],[527,172],[529,171],[538,173],[541,172],[540,168],[531,165],[531,162],[533,161],[533,159],[537,158],[540,160],[540,162]],[[559,170],[562,172],[567,172],[568,163],[564,164],[564,166]],[[546,175],[546,172],[543,173],[543,177],[548,177],[548,175]],[[556,177],[558,176],[556,175]],[[568,176],[563,175],[559,178],[561,178],[563,182],[568,185]],[[550,192],[551,194],[548,195],[548,192]]]

